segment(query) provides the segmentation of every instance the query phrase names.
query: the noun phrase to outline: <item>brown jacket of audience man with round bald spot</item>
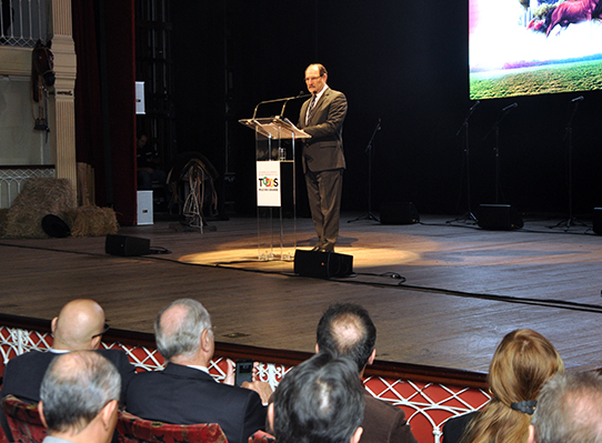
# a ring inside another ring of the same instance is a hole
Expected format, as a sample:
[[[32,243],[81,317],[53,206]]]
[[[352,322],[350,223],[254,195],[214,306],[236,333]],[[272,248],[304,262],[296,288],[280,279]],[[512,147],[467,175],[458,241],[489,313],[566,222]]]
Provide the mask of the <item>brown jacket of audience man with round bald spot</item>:
[[[417,443],[405,413],[390,403],[364,393],[363,433],[360,443]]]

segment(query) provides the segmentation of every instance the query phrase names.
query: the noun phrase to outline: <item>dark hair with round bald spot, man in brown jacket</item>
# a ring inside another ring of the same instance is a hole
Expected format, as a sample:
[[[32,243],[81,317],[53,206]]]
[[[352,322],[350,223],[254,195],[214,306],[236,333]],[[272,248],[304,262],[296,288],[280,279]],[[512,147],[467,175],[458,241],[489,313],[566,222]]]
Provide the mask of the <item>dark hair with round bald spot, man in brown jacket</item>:
[[[317,343],[320,352],[347,356],[361,371],[377,343],[377,328],[368,311],[355,303],[330,305],[318,323]]]

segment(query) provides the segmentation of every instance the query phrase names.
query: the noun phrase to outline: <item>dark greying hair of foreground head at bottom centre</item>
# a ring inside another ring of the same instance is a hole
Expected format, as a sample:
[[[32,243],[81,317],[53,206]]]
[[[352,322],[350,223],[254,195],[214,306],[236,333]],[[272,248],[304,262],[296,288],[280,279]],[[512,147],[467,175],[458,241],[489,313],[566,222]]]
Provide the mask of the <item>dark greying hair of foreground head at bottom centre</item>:
[[[351,360],[319,353],[292,369],[273,395],[279,443],[349,443],[363,421],[363,385]]]

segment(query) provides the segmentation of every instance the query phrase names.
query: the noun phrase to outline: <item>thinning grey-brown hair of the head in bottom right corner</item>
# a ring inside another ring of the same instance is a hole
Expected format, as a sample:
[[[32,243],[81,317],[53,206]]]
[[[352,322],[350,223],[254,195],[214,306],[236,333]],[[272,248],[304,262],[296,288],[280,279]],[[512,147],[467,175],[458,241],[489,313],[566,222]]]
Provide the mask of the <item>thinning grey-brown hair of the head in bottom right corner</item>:
[[[550,379],[531,423],[538,443],[601,443],[602,377],[583,372]]]

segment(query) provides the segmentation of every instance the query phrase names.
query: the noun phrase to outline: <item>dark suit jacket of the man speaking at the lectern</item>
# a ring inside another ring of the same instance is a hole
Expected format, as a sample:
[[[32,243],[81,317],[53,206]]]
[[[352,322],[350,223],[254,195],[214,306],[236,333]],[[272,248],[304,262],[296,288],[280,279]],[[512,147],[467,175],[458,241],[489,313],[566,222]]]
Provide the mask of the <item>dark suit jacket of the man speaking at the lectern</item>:
[[[303,172],[344,169],[343,155],[343,121],[347,115],[347,98],[342,92],[327,88],[313,108],[309,124],[305,125],[305,114],[311,99],[301,107],[298,127],[309,133],[311,139],[304,139]]]

